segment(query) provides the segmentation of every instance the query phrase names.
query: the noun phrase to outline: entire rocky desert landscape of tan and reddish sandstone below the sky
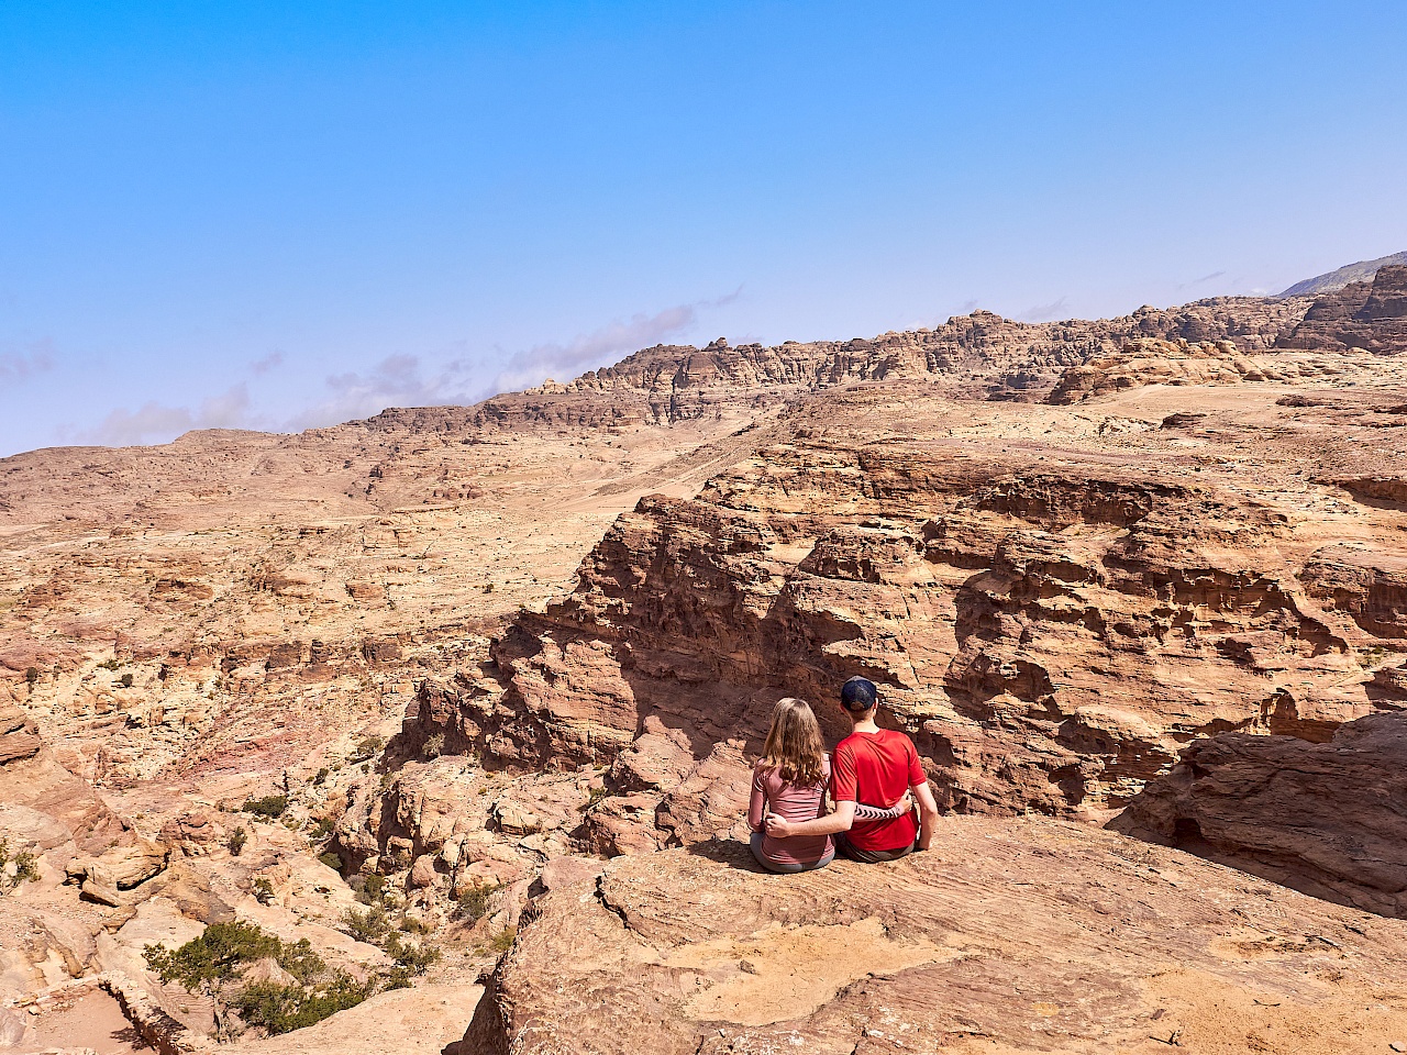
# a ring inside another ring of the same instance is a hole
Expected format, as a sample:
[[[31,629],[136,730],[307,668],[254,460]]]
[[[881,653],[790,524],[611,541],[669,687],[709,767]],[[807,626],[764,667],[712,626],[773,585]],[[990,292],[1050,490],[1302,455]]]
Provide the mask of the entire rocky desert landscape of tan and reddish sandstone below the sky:
[[[0,461],[0,1049],[1407,1051],[1407,263]],[[771,705],[944,812],[760,872]]]

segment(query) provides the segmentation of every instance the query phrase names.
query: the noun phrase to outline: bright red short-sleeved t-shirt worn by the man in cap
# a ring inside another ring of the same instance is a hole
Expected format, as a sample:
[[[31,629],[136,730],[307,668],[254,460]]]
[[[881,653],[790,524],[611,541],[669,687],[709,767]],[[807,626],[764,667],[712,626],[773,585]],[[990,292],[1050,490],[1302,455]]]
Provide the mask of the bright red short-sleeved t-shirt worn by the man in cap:
[[[830,798],[889,806],[909,788],[927,781],[919,750],[903,733],[851,733],[839,744],[830,761]],[[899,850],[919,834],[913,812],[892,820],[857,820],[846,840],[857,850]]]

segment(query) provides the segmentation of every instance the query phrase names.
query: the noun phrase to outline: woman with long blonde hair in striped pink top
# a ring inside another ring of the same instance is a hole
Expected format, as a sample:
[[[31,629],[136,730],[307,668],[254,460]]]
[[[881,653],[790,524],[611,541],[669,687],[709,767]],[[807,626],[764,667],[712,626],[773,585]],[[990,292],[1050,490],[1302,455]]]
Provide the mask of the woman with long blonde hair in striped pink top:
[[[777,701],[772,726],[767,730],[763,757],[753,769],[753,796],[747,807],[749,843],[757,864],[770,872],[809,872],[825,868],[836,857],[830,836],[768,836],[767,814],[789,821],[815,820],[826,814],[830,757],[820,736],[820,723],[810,705],[788,696]],[[888,819],[903,816],[912,805],[900,799],[892,809],[857,805],[857,816]]]

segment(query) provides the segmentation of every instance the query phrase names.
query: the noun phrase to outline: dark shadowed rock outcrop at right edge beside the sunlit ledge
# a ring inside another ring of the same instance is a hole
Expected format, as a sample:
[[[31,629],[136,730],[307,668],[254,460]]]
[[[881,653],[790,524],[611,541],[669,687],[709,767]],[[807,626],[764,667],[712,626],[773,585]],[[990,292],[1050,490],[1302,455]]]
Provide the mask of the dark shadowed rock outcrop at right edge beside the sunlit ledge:
[[[1407,917],[1407,716],[1349,722],[1323,744],[1241,733],[1200,740],[1116,827]]]

